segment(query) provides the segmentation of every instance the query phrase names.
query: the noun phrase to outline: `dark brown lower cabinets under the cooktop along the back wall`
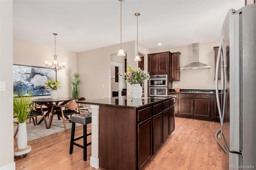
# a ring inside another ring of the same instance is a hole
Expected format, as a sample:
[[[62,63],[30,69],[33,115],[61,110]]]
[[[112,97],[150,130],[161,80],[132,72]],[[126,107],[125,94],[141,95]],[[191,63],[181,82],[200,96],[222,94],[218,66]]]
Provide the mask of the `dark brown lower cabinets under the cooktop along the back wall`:
[[[220,121],[216,94],[170,93],[175,97],[175,116],[206,121]]]

